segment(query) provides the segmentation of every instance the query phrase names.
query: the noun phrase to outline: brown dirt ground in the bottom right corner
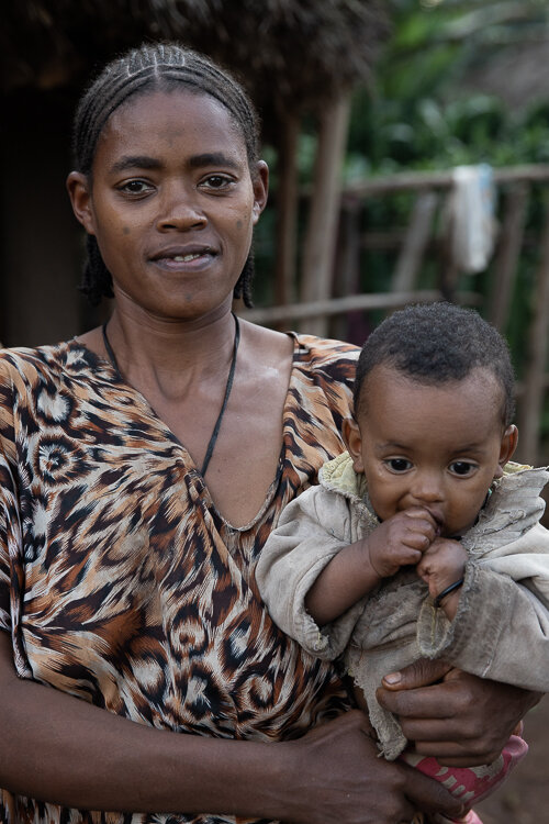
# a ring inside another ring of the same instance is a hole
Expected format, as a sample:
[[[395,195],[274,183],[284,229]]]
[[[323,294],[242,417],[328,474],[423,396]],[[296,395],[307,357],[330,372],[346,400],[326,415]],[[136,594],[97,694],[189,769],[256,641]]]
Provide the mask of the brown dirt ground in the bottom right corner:
[[[525,721],[529,753],[493,797],[474,808],[483,824],[549,824],[549,697]]]

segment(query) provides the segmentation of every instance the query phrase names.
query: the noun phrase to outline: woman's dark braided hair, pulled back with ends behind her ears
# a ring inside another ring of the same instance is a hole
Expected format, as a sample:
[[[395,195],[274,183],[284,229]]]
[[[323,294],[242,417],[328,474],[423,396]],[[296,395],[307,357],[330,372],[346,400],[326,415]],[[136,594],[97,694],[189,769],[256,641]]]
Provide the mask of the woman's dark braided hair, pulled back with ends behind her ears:
[[[258,160],[258,119],[244,88],[225,69],[204,55],[177,43],[144,44],[109,63],[83,93],[77,108],[72,131],[72,153],[78,171],[91,178],[99,136],[109,118],[134,94],[170,90],[184,86],[197,93],[210,94],[229,112],[244,137],[253,176]],[[112,276],[93,235],[87,237],[88,260],[80,290],[92,305],[103,297],[112,298]],[[251,252],[234,289],[251,307],[254,257]]]

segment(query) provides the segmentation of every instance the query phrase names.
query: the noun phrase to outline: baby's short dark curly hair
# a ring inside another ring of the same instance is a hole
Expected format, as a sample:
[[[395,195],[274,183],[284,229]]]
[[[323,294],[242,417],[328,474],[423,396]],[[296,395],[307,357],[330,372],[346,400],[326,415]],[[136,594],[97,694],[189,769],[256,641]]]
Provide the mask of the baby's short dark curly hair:
[[[502,422],[515,414],[515,376],[509,349],[497,330],[471,309],[452,303],[406,307],[369,335],[357,366],[355,412],[365,408],[365,379],[379,365],[391,366],[429,386],[462,380],[473,369],[491,371],[502,388]]]

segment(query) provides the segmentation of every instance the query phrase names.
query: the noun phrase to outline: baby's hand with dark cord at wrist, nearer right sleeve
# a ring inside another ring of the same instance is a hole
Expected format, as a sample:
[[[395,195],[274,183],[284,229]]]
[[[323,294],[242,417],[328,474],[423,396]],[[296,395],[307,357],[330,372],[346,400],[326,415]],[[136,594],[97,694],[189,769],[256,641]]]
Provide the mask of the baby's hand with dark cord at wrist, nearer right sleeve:
[[[436,598],[447,587],[463,578],[466,563],[467,550],[459,541],[436,538],[417,565],[417,575],[427,583],[432,598]],[[459,590],[456,590],[440,604],[450,620],[456,615],[458,601]]]

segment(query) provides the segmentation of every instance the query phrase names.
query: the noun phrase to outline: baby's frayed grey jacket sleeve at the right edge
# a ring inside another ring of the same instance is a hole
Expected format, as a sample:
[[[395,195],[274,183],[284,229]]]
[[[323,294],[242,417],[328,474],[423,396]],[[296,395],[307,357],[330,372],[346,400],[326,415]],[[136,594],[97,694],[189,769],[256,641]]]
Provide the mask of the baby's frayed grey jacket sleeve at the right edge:
[[[417,641],[422,655],[467,672],[546,692],[549,684],[549,532],[540,524],[468,563],[450,623],[427,599]]]

